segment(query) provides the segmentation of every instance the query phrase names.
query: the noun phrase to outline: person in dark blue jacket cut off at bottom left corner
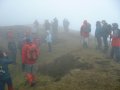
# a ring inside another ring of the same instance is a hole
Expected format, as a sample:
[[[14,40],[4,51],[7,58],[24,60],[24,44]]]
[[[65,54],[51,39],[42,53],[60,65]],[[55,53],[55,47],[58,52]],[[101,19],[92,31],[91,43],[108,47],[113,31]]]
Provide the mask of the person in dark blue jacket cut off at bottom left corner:
[[[5,84],[8,86],[8,90],[13,90],[12,78],[8,69],[8,65],[12,64],[11,60],[6,52],[0,50],[0,90],[5,90]]]

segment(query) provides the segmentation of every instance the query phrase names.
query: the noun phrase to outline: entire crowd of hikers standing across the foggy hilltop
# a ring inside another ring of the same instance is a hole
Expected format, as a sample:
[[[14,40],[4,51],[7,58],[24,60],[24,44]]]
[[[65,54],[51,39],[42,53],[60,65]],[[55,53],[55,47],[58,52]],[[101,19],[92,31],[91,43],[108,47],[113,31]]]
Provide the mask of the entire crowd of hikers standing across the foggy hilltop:
[[[45,21],[46,37],[44,38],[48,44],[48,52],[52,52],[52,42],[57,38],[58,34],[58,20],[54,18],[50,24],[48,20]],[[66,32],[69,31],[69,21],[63,20],[63,27]],[[31,30],[31,28],[29,28]],[[39,30],[39,23],[35,21],[33,24],[33,31],[26,31],[18,39],[18,46],[20,49],[22,71],[26,82],[33,86],[36,83],[35,65],[40,56],[41,39],[36,31]],[[89,37],[91,32],[91,24],[84,20],[80,28],[81,43],[84,48],[89,47]],[[110,42],[108,38],[110,37]],[[108,24],[105,20],[96,22],[95,38],[97,40],[97,50],[107,52],[109,43],[111,43],[110,57],[115,60],[120,60],[120,29],[117,23]],[[103,46],[104,45],[104,46]],[[9,64],[16,65],[17,57],[16,40],[12,32],[8,32],[8,52],[0,50],[0,90],[5,90],[5,84],[8,85],[8,90],[13,90],[12,79],[8,70]]]

